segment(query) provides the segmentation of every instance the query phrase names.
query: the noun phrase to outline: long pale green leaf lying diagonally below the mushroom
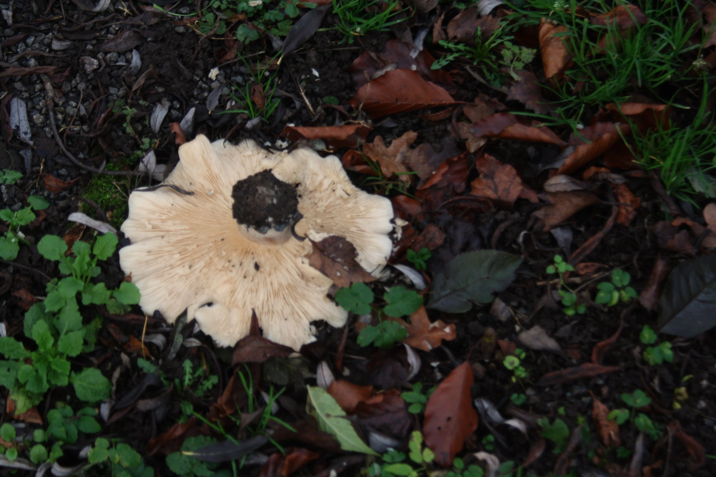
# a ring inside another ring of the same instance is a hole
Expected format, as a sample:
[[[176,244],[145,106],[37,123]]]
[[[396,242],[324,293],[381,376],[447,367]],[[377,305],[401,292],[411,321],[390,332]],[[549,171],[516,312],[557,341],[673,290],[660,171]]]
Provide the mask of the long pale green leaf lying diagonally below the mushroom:
[[[332,395],[315,386],[308,386],[308,391],[312,414],[318,421],[321,431],[337,438],[344,451],[360,452],[371,456],[378,455],[359,438],[351,422],[347,419],[345,411]]]

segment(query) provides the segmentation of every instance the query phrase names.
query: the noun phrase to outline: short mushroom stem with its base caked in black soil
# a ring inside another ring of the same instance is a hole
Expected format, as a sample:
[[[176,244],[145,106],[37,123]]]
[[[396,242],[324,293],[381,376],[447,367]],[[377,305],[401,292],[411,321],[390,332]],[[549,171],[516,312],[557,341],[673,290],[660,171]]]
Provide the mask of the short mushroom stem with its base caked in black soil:
[[[301,220],[296,188],[266,169],[233,186],[233,218],[241,234],[253,242],[280,244]]]

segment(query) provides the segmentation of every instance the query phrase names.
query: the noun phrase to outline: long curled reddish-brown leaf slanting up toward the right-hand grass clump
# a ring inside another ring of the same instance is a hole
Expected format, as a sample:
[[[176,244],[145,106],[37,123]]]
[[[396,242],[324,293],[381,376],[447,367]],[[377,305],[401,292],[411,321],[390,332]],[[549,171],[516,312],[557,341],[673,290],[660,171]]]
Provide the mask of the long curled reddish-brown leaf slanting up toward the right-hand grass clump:
[[[581,169],[596,157],[599,157],[606,149],[609,149],[621,139],[619,130],[621,130],[621,134],[627,134],[629,124],[620,124],[619,129],[611,122],[592,124],[579,132],[586,141],[573,134],[569,145],[575,147],[574,152],[565,159],[557,174],[571,174],[571,172]]]

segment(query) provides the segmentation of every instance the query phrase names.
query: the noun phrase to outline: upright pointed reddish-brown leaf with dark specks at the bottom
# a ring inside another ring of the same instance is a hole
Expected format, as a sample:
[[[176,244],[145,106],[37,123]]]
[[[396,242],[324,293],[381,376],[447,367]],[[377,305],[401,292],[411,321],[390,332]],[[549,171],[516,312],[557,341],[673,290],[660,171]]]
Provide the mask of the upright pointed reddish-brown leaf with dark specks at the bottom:
[[[437,385],[427,401],[422,435],[435,453],[435,463],[445,468],[452,465],[465,439],[478,427],[470,393],[473,380],[473,368],[465,361]]]

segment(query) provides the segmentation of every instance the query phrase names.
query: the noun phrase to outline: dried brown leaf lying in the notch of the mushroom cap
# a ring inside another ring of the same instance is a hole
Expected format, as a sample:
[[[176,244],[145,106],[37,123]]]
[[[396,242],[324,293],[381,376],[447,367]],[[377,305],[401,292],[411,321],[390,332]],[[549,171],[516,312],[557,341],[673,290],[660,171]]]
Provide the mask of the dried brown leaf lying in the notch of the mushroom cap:
[[[357,262],[356,247],[344,237],[332,235],[320,242],[313,242],[309,265],[333,280],[339,288],[355,282],[372,282],[375,277]]]

